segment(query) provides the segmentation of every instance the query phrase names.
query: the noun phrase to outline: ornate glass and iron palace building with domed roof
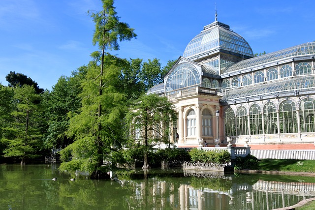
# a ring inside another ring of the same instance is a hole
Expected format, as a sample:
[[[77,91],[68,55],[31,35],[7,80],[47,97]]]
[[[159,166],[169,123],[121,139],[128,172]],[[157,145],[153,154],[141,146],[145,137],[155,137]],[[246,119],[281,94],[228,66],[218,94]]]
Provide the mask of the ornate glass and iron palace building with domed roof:
[[[216,17],[148,93],[176,107],[178,147],[231,137],[252,149],[315,149],[315,42],[254,57]]]

